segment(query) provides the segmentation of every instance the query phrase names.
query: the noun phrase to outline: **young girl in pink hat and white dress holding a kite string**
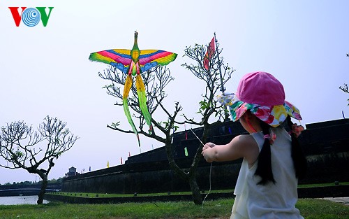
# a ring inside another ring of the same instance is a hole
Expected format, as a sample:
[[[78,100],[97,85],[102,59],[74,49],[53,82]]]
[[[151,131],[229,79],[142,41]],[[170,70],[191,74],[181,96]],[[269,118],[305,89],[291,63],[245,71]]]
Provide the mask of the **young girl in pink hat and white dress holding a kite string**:
[[[230,106],[232,119],[250,133],[226,145],[206,143],[202,148],[207,162],[244,157],[231,218],[302,218],[295,204],[306,159],[297,135],[280,127],[286,121],[292,130],[291,117],[302,118],[285,101],[283,85],[269,73],[248,73],[240,80],[237,94],[222,94],[218,101]]]

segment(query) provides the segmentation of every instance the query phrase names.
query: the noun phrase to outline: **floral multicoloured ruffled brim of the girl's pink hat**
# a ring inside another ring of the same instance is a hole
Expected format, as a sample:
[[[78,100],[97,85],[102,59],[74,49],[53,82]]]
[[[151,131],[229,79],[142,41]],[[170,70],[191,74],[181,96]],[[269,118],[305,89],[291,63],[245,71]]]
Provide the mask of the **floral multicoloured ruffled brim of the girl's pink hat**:
[[[237,121],[246,111],[251,111],[257,118],[272,127],[281,125],[288,115],[296,120],[302,120],[299,109],[285,101],[283,105],[261,106],[259,104],[249,104],[237,99],[235,94],[221,94],[217,96],[218,102],[230,107],[232,120]]]

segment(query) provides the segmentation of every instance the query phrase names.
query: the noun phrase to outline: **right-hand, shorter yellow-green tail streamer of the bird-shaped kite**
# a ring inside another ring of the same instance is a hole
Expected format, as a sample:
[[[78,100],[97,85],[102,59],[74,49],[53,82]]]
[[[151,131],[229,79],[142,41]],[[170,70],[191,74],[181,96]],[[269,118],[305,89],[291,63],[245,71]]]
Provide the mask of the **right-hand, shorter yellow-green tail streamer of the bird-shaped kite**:
[[[149,134],[153,132],[153,126],[151,125],[151,115],[147,108],[147,97],[145,97],[145,87],[140,74],[135,77],[135,86],[137,87],[138,100],[140,101],[140,110],[143,113],[145,122],[149,126]]]

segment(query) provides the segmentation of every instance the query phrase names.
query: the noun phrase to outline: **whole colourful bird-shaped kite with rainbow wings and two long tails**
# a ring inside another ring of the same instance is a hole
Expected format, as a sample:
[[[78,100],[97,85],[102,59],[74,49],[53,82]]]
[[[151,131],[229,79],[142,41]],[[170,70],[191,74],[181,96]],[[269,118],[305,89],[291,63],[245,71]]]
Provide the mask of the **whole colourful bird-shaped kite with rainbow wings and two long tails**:
[[[128,109],[127,97],[131,90],[133,78],[135,76],[135,87],[137,88],[138,101],[140,103],[140,110],[144,116],[144,120],[149,125],[149,133],[152,133],[153,127],[151,125],[151,115],[147,108],[147,98],[145,96],[145,87],[140,73],[149,70],[156,65],[165,66],[176,59],[177,54],[173,52],[166,52],[163,50],[140,50],[137,43],[138,32],[135,31],[135,42],[132,50],[112,49],[103,50],[100,52],[93,52],[89,56],[89,60],[94,62],[103,62],[110,64],[120,71],[127,73],[126,82],[124,86],[124,94],[122,104],[128,123],[130,123],[133,132],[138,138],[138,145],[140,146],[140,137],[138,131],[131,118],[130,110]]]

